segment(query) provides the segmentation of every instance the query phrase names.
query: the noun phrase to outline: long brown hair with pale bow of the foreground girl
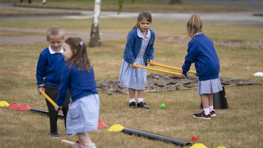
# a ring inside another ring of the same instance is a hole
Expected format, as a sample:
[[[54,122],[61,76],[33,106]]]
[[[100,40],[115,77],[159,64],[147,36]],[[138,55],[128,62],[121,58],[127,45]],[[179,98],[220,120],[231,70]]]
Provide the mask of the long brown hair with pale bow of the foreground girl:
[[[65,43],[70,45],[70,49],[73,53],[72,57],[68,60],[71,63],[69,69],[73,64],[77,65],[77,68],[81,71],[89,71],[91,68],[85,43],[79,37],[69,37],[65,40]]]

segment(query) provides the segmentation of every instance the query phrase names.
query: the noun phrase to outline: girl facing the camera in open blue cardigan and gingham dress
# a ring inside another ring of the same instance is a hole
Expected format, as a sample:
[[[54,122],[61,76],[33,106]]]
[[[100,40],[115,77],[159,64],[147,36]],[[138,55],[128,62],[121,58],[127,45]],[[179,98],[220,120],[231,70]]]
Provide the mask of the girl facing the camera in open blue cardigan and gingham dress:
[[[120,84],[129,90],[129,107],[149,109],[143,101],[147,70],[137,68],[136,65],[147,66],[147,61],[153,61],[153,44],[155,34],[150,30],[152,15],[149,11],[141,11],[136,24],[131,28],[127,36],[122,66],[120,69]],[[130,66],[132,64],[132,66]],[[135,103],[135,90],[138,92],[138,104]]]

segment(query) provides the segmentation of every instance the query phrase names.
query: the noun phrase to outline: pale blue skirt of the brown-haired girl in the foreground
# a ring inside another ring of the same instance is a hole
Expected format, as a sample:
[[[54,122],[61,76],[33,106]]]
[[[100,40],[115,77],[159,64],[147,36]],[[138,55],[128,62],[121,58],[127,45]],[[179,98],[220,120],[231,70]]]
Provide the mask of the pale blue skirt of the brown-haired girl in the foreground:
[[[66,133],[76,134],[98,129],[100,99],[98,94],[89,94],[68,105]]]

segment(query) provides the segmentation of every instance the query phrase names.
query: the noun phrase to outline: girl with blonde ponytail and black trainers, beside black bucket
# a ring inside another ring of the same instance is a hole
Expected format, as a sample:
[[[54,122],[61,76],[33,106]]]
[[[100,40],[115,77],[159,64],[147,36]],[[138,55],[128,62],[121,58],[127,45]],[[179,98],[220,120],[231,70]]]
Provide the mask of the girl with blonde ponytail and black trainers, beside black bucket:
[[[193,114],[195,118],[210,119],[216,116],[213,109],[213,93],[222,90],[219,80],[220,64],[213,42],[202,33],[202,22],[197,14],[193,14],[187,22],[188,35],[192,40],[188,43],[187,55],[182,66],[182,78],[192,63],[195,63],[196,76],[199,77],[198,92],[203,111]]]

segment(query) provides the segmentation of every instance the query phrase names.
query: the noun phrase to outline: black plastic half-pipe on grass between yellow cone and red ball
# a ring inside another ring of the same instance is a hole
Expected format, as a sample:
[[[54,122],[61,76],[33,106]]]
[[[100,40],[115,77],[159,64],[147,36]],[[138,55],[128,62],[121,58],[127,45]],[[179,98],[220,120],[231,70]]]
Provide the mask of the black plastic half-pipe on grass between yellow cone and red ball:
[[[179,145],[179,146],[186,146],[186,145],[193,145],[191,142],[186,142],[183,140],[179,140],[179,139],[174,139],[171,137],[166,137],[166,136],[162,136],[162,135],[157,135],[157,134],[153,134],[150,132],[144,132],[141,130],[135,130],[135,129],[131,129],[131,128],[124,128],[122,129],[122,132],[127,133],[129,135],[138,135],[140,136],[144,136],[147,137],[148,139],[153,139],[153,140],[161,140],[164,142],[171,142],[173,144]]]

